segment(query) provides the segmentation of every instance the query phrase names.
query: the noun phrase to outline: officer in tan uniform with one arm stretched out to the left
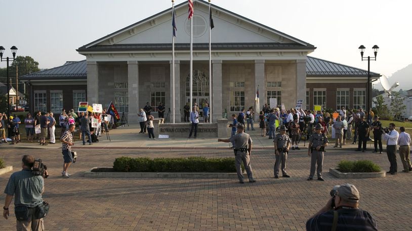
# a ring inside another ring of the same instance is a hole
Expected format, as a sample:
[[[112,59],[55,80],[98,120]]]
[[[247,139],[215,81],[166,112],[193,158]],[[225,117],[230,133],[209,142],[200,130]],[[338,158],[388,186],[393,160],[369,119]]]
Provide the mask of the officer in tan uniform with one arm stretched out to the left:
[[[244,127],[242,124],[237,125],[237,134],[229,139],[218,139],[218,142],[233,143],[233,151],[235,153],[235,165],[237,171],[237,177],[239,183],[243,184],[243,175],[240,164],[243,161],[244,168],[248,174],[249,182],[254,183],[256,180],[252,176],[252,167],[250,162],[250,155],[252,151],[252,139],[249,134],[243,132]]]

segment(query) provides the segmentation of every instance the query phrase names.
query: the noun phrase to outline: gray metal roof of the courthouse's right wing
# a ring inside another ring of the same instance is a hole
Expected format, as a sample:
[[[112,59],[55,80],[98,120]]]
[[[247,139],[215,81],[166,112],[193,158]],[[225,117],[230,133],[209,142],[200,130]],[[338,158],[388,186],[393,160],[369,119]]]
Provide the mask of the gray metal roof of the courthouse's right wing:
[[[370,74],[373,77],[380,76],[375,72]],[[367,71],[308,56],[306,76],[367,76]]]

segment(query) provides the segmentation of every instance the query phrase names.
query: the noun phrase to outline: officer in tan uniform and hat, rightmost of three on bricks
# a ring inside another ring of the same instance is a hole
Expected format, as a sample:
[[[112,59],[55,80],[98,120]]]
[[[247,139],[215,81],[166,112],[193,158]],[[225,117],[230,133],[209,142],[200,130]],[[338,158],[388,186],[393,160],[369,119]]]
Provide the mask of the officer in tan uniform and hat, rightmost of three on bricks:
[[[315,175],[315,166],[317,163],[316,173],[317,180],[324,181],[322,178],[322,165],[323,165],[323,151],[327,146],[327,137],[321,133],[322,126],[317,124],[315,127],[315,133],[309,138],[308,156],[311,157],[310,161],[310,175],[308,181],[313,180]]]

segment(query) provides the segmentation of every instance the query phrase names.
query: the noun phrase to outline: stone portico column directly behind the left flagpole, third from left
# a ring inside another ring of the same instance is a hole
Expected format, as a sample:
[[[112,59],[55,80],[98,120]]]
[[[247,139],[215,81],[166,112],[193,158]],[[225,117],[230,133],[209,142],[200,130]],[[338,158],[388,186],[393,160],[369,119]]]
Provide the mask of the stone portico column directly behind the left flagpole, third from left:
[[[182,121],[182,114],[180,112],[180,110],[183,110],[183,107],[181,108],[181,104],[180,104],[180,61],[175,60],[175,83],[173,83],[173,64],[172,62],[170,62],[170,121],[172,122],[172,118],[173,118],[173,108],[172,108],[172,100],[173,97],[175,97],[175,123],[180,123]],[[173,84],[175,85],[175,95],[173,95]],[[186,91],[186,89],[185,89]],[[169,108],[166,108],[166,110],[164,112],[167,112]],[[167,114],[167,113],[166,113]],[[165,114],[165,116],[166,116]]]

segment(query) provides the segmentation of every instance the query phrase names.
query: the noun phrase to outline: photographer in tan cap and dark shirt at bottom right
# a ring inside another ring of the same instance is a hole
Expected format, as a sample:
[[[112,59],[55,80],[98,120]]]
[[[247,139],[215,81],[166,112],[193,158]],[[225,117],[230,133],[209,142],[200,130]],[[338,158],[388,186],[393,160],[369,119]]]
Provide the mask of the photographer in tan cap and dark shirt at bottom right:
[[[359,208],[354,185],[337,185],[323,208],[306,221],[306,230],[378,230],[376,220]]]

